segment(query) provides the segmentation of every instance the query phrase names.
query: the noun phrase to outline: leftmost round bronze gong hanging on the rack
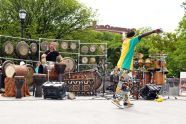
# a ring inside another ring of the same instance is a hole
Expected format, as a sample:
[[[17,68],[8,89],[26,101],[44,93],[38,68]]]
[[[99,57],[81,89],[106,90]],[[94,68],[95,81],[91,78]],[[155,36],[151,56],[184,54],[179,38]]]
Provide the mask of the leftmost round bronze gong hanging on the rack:
[[[14,52],[14,45],[13,45],[10,41],[6,41],[6,42],[3,44],[3,52],[4,52],[6,55],[12,55],[13,52]]]

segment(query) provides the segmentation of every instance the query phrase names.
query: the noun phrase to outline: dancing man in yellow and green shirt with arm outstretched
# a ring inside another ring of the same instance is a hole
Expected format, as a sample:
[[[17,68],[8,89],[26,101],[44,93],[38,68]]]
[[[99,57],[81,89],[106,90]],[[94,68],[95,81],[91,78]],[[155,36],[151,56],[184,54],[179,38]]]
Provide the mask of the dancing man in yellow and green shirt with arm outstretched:
[[[116,96],[118,96],[118,98],[112,101],[115,105],[121,106],[120,101],[122,99],[124,100],[124,106],[132,105],[129,99],[129,94],[130,94],[129,76],[127,74],[133,69],[133,56],[134,56],[135,46],[139,43],[139,41],[143,37],[148,36],[153,33],[161,33],[161,32],[162,32],[161,29],[156,29],[156,30],[146,32],[136,37],[133,37],[135,35],[134,30],[130,30],[129,32],[126,33],[126,39],[124,39],[123,44],[122,44],[121,56],[117,63],[117,67],[120,70],[123,70],[123,72],[122,72],[122,75],[120,76],[120,81],[117,85],[116,93],[115,93]]]

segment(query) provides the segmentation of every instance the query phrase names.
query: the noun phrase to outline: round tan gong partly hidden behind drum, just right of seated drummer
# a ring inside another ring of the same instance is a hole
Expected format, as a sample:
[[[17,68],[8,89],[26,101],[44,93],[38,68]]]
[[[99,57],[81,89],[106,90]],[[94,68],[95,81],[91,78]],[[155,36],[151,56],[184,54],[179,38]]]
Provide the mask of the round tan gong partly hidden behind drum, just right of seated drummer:
[[[75,69],[75,61],[70,57],[63,58],[62,62],[66,64],[65,72],[72,72]]]

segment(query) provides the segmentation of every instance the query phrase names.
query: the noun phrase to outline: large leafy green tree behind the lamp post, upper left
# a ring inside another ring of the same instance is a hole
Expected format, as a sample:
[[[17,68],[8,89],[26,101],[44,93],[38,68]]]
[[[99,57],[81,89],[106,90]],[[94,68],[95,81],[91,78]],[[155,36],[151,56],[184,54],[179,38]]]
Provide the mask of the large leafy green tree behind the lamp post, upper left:
[[[63,38],[90,26],[91,9],[77,0],[0,0],[0,34],[20,36],[20,9],[27,11],[25,37]]]

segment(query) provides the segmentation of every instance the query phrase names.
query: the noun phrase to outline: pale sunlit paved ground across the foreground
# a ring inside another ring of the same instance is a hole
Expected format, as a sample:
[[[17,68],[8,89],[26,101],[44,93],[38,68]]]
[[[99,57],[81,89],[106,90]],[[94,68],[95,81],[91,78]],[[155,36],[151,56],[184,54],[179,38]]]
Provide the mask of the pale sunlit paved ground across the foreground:
[[[186,98],[163,102],[134,100],[119,109],[111,100],[77,97],[75,100],[22,99],[0,96],[0,124],[185,124]]]

